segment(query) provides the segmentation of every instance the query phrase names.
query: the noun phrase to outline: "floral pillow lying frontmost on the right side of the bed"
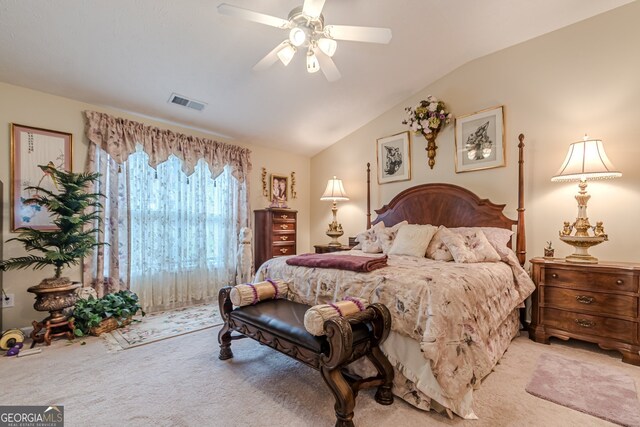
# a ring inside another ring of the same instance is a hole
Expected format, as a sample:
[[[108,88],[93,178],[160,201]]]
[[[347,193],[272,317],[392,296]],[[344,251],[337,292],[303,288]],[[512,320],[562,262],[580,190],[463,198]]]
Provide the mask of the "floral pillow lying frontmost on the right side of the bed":
[[[467,234],[444,230],[442,241],[453,255],[455,262],[498,262],[500,255],[491,246],[482,230],[476,229]]]

